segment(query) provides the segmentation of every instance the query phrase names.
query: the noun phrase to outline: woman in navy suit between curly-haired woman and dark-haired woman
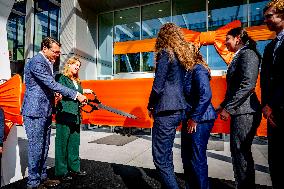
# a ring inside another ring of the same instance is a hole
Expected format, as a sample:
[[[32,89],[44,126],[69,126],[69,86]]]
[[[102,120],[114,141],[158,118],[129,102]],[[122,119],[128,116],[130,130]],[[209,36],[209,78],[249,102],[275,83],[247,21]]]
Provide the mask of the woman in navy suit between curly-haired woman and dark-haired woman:
[[[211,104],[209,68],[195,45],[188,43],[188,51],[190,60],[184,77],[188,107],[182,126],[181,156],[186,188],[208,189],[206,149],[217,114]]]

